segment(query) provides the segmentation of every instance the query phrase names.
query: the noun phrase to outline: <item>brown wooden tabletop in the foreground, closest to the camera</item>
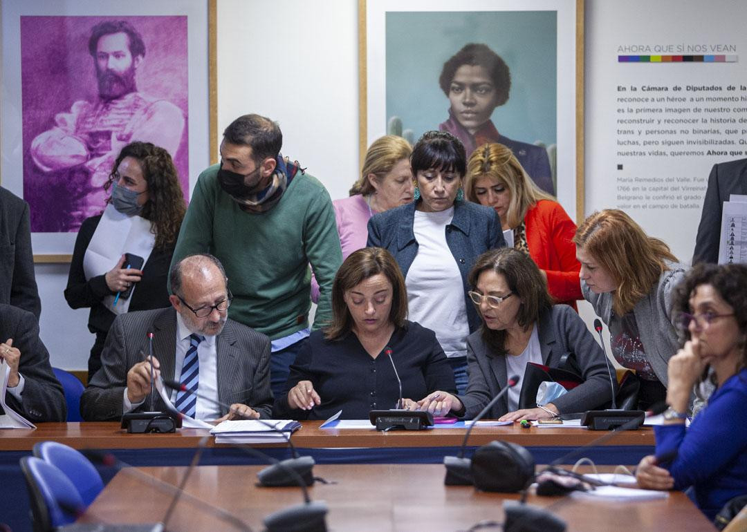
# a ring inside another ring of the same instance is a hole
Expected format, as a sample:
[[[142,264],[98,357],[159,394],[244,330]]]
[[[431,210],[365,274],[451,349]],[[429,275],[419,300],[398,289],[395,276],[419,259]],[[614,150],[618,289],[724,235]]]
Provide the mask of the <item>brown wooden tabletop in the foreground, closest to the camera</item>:
[[[298,488],[255,486],[257,466],[200,466],[187,482],[196,498],[233,513],[252,530],[264,516],[300,504]],[[138,468],[176,486],[183,467]],[[314,473],[337,484],[314,484],[311,498],[326,501],[330,531],[457,531],[483,519],[503,520],[503,499],[516,495],[477,492],[471,486],[444,486],[441,465],[320,465]],[[127,470],[117,473],[84,518],[88,522],[158,522],[171,495]],[[530,495],[530,504],[553,505],[569,531],[713,531],[706,517],[681,492],[639,502],[577,501]],[[226,529],[214,515],[182,499],[170,530]]]

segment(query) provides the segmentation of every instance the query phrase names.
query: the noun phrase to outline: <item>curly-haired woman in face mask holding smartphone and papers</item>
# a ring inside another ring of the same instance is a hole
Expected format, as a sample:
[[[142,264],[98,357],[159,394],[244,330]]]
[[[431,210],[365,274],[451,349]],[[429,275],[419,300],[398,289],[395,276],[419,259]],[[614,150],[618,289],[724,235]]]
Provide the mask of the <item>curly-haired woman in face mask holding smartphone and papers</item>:
[[[169,306],[167,277],[186,210],[171,156],[151,143],[126,145],[104,190],[111,190],[106,209],[78,231],[65,289],[71,308],[90,307],[89,380],[118,313]],[[123,253],[111,257],[113,248]]]

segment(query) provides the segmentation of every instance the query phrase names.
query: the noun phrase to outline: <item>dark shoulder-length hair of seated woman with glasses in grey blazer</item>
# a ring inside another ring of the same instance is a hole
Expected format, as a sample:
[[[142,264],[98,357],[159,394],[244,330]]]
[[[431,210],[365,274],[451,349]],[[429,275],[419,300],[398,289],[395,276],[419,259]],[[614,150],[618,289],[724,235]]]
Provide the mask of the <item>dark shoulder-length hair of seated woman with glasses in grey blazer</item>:
[[[539,268],[531,257],[514,248],[498,248],[477,257],[468,275],[472,290],[477,288],[480,274],[492,271],[503,275],[509,290],[521,299],[516,321],[521,327],[528,327],[539,319],[539,314],[553,305],[548,292],[548,284],[542,278]],[[480,332],[485,342],[495,354],[506,354],[506,331],[494,331],[483,325]]]

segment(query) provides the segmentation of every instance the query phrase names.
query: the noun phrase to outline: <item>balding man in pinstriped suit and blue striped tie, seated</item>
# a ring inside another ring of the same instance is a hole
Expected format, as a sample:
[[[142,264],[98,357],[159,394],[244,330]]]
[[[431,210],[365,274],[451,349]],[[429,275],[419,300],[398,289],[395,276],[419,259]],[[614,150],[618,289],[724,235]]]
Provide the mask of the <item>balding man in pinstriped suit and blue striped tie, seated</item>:
[[[270,339],[228,319],[232,297],[227,281],[217,258],[190,255],[171,269],[172,308],[117,316],[102,368],[83,392],[83,418],[106,421],[149,410],[151,332],[154,374],[206,397],[173,392],[170,399],[178,410],[196,419],[270,417]],[[163,410],[158,394],[156,399],[155,408]],[[216,401],[230,404],[231,410]]]

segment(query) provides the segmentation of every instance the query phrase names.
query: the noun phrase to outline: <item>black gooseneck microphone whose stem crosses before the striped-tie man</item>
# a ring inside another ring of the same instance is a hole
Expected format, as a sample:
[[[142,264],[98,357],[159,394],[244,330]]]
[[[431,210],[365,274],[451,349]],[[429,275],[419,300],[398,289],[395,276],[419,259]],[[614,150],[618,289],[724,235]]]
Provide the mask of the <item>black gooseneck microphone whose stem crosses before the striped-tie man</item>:
[[[209,401],[213,404],[217,404],[219,407],[224,408],[229,412],[233,412],[238,416],[243,417],[244,419],[247,419],[246,416],[243,416],[241,413],[232,410],[230,404],[226,404],[223,401],[218,401],[217,399],[202,395],[199,392],[187,389],[187,387],[182,383],[170,379],[164,379],[164,385],[167,388],[176,389],[178,392],[191,393],[195,397],[201,398],[204,401]],[[311,471],[314,468],[314,458],[309,456],[299,456],[298,451],[296,450],[296,446],[293,445],[293,442],[291,442],[291,437],[288,436],[285,431],[279,430],[275,425],[267,423],[266,421],[264,421],[264,419],[255,419],[255,421],[259,422],[261,425],[264,425],[267,428],[272,429],[273,432],[279,433],[283,437],[283,439],[285,439],[285,442],[288,444],[288,448],[291,449],[292,455],[292,458],[282,460],[282,462],[273,464],[272,466],[269,466],[258,472],[257,478],[259,480],[259,483],[262,486],[269,487],[297,486],[298,480],[300,478],[303,479],[303,483],[306,486],[311,486],[311,484],[314,484],[314,474]]]

